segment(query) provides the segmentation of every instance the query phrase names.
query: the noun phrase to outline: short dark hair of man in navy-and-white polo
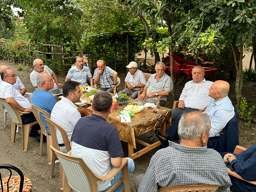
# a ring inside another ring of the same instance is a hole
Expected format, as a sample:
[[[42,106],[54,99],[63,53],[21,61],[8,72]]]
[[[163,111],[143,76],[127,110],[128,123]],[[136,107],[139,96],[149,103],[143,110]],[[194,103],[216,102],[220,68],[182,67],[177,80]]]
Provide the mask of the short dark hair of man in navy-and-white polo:
[[[99,113],[106,113],[112,107],[112,97],[106,91],[99,91],[93,98],[93,110]]]

